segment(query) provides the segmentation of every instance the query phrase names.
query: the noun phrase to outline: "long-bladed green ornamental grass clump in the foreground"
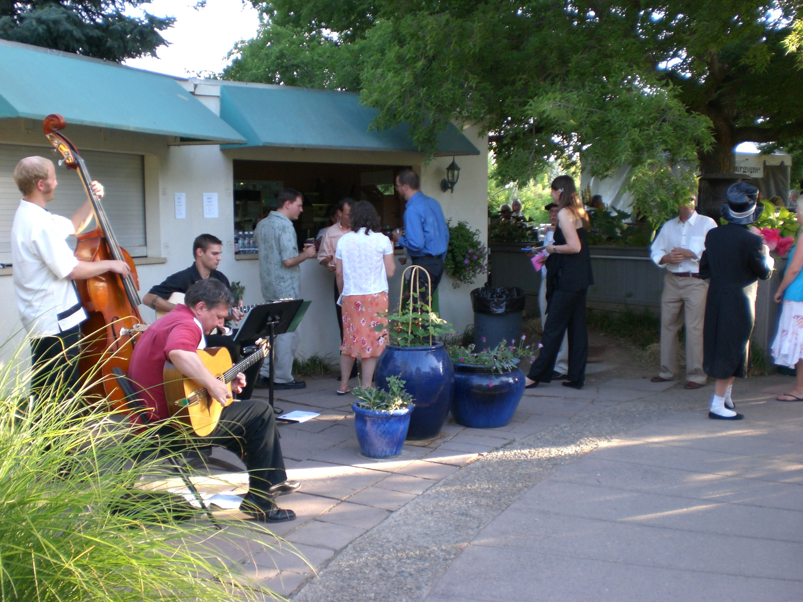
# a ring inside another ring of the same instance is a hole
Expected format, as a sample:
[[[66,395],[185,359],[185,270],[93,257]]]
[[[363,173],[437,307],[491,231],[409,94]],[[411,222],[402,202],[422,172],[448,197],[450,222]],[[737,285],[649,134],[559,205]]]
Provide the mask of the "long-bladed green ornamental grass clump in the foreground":
[[[34,401],[22,349],[0,366],[0,600],[254,600],[232,595],[243,576],[206,551],[216,531],[201,510],[146,491],[170,475],[153,433],[88,408],[83,390]]]

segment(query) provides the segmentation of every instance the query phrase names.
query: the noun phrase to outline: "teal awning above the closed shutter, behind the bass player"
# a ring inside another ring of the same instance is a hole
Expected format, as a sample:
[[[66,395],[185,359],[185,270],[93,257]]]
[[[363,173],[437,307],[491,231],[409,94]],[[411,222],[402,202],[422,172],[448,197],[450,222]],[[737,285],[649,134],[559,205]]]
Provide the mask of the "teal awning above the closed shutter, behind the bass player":
[[[238,144],[243,136],[166,75],[0,40],[0,119],[42,120]]]

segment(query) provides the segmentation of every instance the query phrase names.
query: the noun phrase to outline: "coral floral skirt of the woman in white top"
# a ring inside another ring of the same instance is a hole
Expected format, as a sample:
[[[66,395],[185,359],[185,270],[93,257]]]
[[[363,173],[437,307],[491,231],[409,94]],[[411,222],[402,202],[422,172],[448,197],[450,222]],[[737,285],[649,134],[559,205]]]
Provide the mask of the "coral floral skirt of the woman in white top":
[[[387,324],[387,292],[373,295],[349,295],[343,298],[343,345],[340,352],[352,357],[379,357],[388,340],[386,331],[377,332],[377,324]]]

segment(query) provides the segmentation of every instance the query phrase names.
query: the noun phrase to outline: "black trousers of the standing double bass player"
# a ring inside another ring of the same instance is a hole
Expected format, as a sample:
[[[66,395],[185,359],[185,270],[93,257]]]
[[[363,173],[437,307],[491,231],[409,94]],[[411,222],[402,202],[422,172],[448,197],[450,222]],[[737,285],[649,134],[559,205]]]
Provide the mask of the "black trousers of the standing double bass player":
[[[64,397],[78,388],[80,326],[31,339],[31,394]]]

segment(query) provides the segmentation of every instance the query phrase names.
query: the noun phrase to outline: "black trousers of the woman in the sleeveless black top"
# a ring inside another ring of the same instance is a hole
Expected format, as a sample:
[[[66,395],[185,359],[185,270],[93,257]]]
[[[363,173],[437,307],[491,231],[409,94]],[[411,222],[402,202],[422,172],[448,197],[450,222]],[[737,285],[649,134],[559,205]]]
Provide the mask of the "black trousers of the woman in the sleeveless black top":
[[[585,364],[589,359],[589,332],[585,327],[585,291],[552,291],[549,313],[541,336],[538,359],[533,362],[530,380],[548,383],[552,380],[557,352],[565,332],[569,333],[569,372],[571,382],[585,382]]]

